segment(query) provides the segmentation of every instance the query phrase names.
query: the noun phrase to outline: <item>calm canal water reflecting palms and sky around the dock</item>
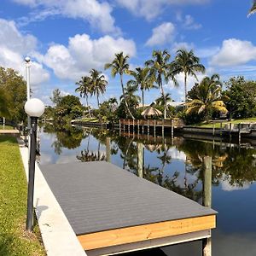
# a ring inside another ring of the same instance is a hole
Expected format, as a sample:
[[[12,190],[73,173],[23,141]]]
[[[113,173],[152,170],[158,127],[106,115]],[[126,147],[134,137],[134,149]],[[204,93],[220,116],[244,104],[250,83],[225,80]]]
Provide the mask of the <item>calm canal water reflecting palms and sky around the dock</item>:
[[[137,138],[107,130],[46,125],[38,133],[42,165],[110,160],[137,173],[137,143],[143,143],[143,177],[202,202],[204,156],[212,157],[212,255],[256,255],[256,149],[249,144],[199,141],[183,137]],[[141,175],[141,174],[140,174]],[[172,206],[170,206],[172,207]],[[201,255],[201,241],[131,255]]]

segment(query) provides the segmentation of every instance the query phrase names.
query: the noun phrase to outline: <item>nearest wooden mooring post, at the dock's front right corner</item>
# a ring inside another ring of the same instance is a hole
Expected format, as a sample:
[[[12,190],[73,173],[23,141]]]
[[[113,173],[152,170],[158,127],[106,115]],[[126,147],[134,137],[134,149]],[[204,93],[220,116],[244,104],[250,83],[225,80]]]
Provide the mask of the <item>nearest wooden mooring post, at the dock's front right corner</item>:
[[[205,156],[203,160],[204,179],[202,203],[204,207],[212,207],[212,157]],[[212,237],[204,238],[202,240],[202,255],[212,255]]]

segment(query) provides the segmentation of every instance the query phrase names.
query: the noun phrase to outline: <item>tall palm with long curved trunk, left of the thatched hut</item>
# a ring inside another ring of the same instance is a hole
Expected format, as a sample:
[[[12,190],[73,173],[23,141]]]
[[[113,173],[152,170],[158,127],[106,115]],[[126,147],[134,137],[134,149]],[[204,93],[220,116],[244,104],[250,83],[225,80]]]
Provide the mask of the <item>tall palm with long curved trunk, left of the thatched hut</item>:
[[[124,73],[129,73],[128,59],[129,59],[129,56],[124,55],[123,52],[115,54],[115,58],[113,59],[113,61],[111,63],[105,64],[105,69],[111,68],[111,74],[113,77],[115,77],[117,75],[117,73],[119,73],[126,111],[130,114],[132,119],[135,119],[133,114],[131,113],[131,110],[130,110],[128,103],[126,101],[126,98],[125,98],[125,87],[124,87],[124,83],[123,83]]]

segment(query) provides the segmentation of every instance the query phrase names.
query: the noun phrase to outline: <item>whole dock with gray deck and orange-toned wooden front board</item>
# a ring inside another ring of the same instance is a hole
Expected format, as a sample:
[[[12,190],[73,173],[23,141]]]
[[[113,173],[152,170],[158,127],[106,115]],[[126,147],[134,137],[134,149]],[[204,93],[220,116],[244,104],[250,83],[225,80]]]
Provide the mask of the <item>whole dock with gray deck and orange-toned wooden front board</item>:
[[[88,255],[110,255],[211,236],[216,213],[101,161],[40,166]]]

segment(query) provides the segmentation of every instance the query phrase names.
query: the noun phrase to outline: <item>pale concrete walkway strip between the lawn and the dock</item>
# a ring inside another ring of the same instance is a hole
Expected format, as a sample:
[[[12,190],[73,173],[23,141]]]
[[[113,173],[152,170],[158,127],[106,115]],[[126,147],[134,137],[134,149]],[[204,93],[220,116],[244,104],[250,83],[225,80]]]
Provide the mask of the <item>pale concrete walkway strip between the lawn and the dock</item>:
[[[18,139],[18,142],[27,178],[28,150],[20,139]],[[49,185],[46,183],[37,163],[35,168],[34,207],[47,255],[86,255],[59,203],[56,201],[51,189],[49,189]]]

